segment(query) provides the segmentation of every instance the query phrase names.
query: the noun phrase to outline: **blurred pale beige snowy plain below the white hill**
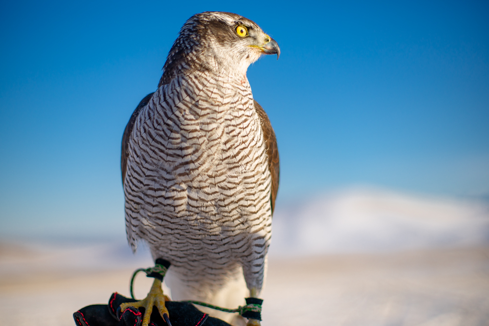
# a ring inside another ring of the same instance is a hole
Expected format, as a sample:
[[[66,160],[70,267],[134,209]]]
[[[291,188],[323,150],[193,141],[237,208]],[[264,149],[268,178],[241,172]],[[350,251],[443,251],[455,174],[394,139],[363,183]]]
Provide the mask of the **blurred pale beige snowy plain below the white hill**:
[[[73,326],[79,308],[129,293],[133,268],[70,268],[64,255],[23,255],[2,257],[1,325]],[[68,264],[44,268],[63,257]],[[272,259],[268,271],[264,326],[489,325],[488,247]],[[136,297],[150,282],[136,279]]]

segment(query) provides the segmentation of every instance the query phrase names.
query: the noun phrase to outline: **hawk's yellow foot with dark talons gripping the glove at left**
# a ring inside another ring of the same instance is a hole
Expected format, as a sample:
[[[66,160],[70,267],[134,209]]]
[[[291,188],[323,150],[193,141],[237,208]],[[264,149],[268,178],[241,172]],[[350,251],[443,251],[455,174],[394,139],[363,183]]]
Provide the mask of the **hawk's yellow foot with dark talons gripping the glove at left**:
[[[156,305],[156,308],[158,309],[161,318],[163,318],[163,320],[167,322],[168,326],[171,326],[170,320],[168,319],[168,316],[170,314],[168,313],[168,309],[165,306],[165,301],[170,301],[170,299],[168,299],[168,297],[163,294],[163,290],[161,289],[161,281],[155,279],[155,281],[153,282],[153,286],[151,286],[150,293],[148,293],[148,296],[145,299],[136,302],[127,302],[121,304],[120,307],[121,312],[124,312],[124,310],[126,310],[128,307],[144,307],[142,326],[148,326],[150,323],[151,313],[153,312],[153,306]]]

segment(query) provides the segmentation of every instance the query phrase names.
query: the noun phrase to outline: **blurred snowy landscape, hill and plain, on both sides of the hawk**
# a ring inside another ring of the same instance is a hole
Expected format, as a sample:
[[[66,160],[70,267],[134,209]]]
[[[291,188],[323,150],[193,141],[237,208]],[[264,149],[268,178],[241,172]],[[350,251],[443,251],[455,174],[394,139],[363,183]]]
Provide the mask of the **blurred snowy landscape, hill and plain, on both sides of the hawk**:
[[[486,203],[355,191],[289,205],[274,217],[262,325],[489,325]],[[152,265],[124,239],[0,240],[0,325],[73,326]],[[138,277],[136,297],[150,285]]]

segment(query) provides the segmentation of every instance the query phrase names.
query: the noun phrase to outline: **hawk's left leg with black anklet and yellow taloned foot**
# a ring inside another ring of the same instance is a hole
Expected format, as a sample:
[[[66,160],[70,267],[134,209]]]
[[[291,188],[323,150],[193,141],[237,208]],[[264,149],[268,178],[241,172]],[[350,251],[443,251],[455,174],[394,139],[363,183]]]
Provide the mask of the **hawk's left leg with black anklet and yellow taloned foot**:
[[[170,324],[170,319],[169,319],[170,314],[168,313],[168,309],[165,306],[165,301],[170,301],[170,299],[163,293],[163,290],[161,288],[161,282],[163,281],[163,276],[164,273],[166,273],[167,268],[163,266],[164,271],[161,272],[160,271],[161,266],[162,264],[159,264],[159,261],[156,260],[156,267],[153,269],[148,269],[148,271],[151,273],[147,272],[148,274],[147,276],[154,277],[155,281],[153,282],[153,285],[151,286],[151,290],[146,298],[144,298],[141,301],[127,302],[120,305],[121,312],[124,312],[124,310],[126,310],[128,307],[134,307],[134,308],[144,307],[145,310],[144,310],[142,326],[149,325],[150,317],[151,317],[151,313],[153,312],[154,305],[156,305],[156,308],[158,309],[161,318],[163,318],[163,320],[168,324],[168,326],[172,326],[172,324]],[[132,289],[131,289],[131,293],[132,293]]]

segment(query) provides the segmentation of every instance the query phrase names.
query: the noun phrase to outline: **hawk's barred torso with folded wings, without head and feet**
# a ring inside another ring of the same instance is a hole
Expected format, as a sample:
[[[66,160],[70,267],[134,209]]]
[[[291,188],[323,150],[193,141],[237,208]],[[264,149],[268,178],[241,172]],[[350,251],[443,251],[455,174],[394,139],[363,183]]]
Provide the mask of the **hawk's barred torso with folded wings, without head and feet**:
[[[141,101],[123,140],[133,250],[146,240],[190,292],[224,286],[241,266],[248,288],[260,289],[278,152],[247,81],[219,87],[211,76],[175,79]]]

